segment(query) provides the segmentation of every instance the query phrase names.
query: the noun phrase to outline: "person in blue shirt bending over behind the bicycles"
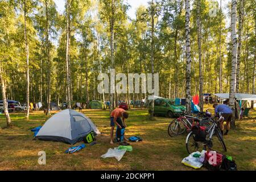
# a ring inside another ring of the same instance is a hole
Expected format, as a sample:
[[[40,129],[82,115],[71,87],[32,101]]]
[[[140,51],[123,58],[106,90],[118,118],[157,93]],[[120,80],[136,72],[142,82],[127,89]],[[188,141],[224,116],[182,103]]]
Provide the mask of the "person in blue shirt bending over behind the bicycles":
[[[225,104],[213,104],[213,108],[215,116],[217,116],[217,113],[222,113],[222,116],[224,117],[224,121],[226,121],[226,133],[224,135],[228,135],[229,129],[230,129],[230,122],[233,119],[233,111],[232,109],[229,108],[228,105]],[[220,122],[220,129],[221,129],[221,134],[223,135],[223,130],[224,126],[223,123],[224,121]]]

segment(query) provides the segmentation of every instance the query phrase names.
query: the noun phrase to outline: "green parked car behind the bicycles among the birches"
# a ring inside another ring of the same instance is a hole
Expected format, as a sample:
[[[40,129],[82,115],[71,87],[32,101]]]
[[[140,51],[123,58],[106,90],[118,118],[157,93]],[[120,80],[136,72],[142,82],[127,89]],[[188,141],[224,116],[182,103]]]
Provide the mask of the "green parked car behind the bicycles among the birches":
[[[152,101],[151,101],[152,102]],[[166,98],[158,98],[154,103],[154,114],[156,115],[164,115],[170,118],[174,118],[179,113],[182,113],[186,107],[183,105],[175,105],[175,100],[170,100]],[[150,103],[148,106],[148,112],[151,113],[152,104]]]

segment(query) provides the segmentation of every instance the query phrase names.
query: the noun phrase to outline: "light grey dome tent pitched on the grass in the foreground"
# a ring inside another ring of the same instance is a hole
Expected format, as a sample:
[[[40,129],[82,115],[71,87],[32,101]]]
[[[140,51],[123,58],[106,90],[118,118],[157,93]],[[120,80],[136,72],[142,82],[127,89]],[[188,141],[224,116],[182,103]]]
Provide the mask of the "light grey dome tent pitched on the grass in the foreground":
[[[91,131],[100,134],[93,122],[84,114],[65,109],[49,118],[38,131],[35,139],[75,144]]]

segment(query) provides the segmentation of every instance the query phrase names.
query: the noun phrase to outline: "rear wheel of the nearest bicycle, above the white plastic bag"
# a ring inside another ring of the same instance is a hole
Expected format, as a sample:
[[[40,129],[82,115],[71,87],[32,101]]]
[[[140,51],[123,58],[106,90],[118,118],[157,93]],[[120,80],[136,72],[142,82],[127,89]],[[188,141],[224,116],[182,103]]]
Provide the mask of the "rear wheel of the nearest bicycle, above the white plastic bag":
[[[192,152],[196,152],[196,151],[206,150],[204,142],[195,141],[195,135],[192,133],[192,131],[189,132],[189,134],[187,135],[186,148],[187,148],[188,154],[191,154]]]

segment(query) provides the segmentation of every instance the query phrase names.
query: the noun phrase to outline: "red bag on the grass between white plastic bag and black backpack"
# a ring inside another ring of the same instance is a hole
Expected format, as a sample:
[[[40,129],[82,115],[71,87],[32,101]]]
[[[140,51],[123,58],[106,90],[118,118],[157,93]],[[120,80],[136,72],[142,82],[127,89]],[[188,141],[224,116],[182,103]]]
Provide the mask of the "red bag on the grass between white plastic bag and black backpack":
[[[214,155],[216,155],[216,161],[214,161]],[[221,169],[223,155],[216,151],[205,152],[204,166],[209,171],[219,171]]]

